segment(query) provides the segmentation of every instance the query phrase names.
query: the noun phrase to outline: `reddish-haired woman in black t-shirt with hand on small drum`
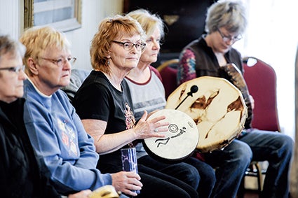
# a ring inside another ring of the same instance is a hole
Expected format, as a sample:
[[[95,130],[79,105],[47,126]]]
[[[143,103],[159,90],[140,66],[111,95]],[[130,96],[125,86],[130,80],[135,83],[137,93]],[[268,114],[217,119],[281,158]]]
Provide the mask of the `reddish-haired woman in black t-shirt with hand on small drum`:
[[[138,139],[163,137],[154,132],[167,131],[168,123],[161,116],[147,120],[144,112],[135,120],[130,90],[123,78],[139,62],[145,48],[144,31],[128,16],[108,17],[100,23],[90,48],[93,71],[76,92],[73,104],[88,134],[95,139],[100,153],[98,168],[103,173],[121,171],[121,148],[135,146]],[[191,186],[159,171],[138,164],[142,182],[137,197],[198,197]]]

